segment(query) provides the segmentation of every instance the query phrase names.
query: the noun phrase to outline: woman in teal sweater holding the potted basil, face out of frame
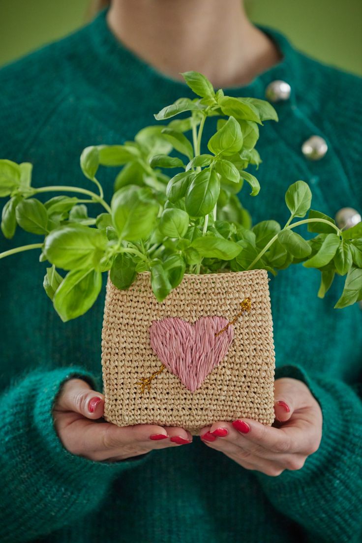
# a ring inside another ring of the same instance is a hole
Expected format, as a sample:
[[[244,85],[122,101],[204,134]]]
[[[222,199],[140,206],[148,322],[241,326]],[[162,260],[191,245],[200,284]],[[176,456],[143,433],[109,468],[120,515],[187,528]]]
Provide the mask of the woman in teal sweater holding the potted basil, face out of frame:
[[[187,70],[232,96],[275,101],[280,122],[258,145],[256,221],[285,222],[283,194],[297,179],[316,209],[361,210],[360,81],[253,26],[239,0],[113,0],[77,33],[3,68],[1,155],[32,162],[35,185],[86,186],[81,150],[152,124],[189,96]],[[27,239],[2,239],[2,250]],[[3,541],[359,541],[362,312],[332,309],[341,283],[324,300],[317,271],[288,269],[270,283],[279,422],[217,421],[190,443],[182,428],[101,420],[101,303],[61,324],[37,295],[35,255],[1,270]]]

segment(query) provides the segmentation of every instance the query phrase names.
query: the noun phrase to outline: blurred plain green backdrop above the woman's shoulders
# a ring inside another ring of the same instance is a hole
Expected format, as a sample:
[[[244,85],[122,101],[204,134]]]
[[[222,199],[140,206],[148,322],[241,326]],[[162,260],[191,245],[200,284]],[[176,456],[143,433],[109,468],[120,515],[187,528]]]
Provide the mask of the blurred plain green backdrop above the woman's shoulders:
[[[281,30],[316,59],[362,74],[361,0],[245,1],[253,21]],[[0,0],[0,65],[80,27],[90,3]]]

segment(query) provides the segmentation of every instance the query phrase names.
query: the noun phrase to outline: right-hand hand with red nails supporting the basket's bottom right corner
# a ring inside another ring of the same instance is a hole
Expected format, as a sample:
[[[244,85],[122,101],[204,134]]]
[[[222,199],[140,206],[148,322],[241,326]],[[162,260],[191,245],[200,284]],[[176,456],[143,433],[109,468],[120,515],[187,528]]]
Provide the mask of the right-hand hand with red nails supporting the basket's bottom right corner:
[[[299,470],[319,447],[322,412],[308,387],[296,379],[275,381],[274,427],[250,419],[215,422],[200,437],[248,470],[277,476]]]

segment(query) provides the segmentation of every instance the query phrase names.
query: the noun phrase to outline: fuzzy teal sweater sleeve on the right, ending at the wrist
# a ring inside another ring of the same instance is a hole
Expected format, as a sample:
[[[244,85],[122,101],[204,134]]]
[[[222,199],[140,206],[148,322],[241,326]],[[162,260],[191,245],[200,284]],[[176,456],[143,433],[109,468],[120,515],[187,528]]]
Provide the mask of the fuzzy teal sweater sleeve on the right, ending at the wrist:
[[[298,471],[278,477],[258,473],[273,506],[299,523],[310,541],[357,543],[362,532],[362,402],[354,389],[297,366],[277,368],[276,378],[303,381],[323,414],[319,449]]]

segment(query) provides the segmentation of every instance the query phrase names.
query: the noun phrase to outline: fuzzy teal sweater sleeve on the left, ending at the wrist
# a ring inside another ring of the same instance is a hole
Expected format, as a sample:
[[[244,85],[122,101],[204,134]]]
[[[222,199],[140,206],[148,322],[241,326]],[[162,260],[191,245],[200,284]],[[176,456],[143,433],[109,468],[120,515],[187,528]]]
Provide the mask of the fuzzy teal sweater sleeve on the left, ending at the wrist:
[[[34,541],[95,510],[112,478],[148,454],[118,463],[69,453],[53,424],[52,408],[63,382],[93,377],[81,368],[34,372],[1,397],[0,526],[2,541]]]

